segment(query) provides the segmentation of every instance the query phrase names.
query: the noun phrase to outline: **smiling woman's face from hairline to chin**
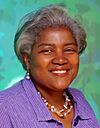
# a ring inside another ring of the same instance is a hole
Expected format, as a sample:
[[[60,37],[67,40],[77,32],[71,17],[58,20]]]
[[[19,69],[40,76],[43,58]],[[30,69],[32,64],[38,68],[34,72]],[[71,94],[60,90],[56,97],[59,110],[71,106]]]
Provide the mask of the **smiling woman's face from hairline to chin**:
[[[63,91],[76,77],[78,65],[78,46],[66,27],[49,27],[40,32],[29,60],[31,77],[38,89]]]

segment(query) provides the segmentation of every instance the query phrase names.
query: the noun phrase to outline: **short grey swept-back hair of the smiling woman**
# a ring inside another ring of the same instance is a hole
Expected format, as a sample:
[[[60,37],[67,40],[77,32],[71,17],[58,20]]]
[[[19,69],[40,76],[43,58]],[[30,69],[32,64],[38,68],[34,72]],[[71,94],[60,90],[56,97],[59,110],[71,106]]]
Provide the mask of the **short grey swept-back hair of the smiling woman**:
[[[39,9],[35,13],[31,12],[25,15],[15,34],[15,53],[24,69],[26,69],[26,66],[23,60],[23,53],[30,55],[32,45],[38,41],[40,31],[48,27],[60,27],[61,25],[71,30],[78,44],[79,54],[84,51],[87,45],[86,32],[79,21],[68,16],[66,7],[64,6],[47,6]]]

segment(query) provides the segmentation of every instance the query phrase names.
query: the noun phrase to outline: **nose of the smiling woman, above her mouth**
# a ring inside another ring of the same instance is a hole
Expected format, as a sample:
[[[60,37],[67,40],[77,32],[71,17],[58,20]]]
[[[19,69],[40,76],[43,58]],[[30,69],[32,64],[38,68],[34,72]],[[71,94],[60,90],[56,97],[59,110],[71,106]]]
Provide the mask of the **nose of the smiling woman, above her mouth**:
[[[68,59],[63,54],[56,54],[52,60],[52,63],[56,65],[65,65],[68,63]]]

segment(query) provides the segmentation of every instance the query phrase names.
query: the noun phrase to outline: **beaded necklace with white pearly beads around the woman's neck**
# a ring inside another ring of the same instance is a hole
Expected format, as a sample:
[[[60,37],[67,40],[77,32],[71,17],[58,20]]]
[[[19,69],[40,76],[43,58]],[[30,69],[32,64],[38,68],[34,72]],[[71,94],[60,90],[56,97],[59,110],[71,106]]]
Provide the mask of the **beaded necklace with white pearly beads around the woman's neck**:
[[[41,96],[40,92],[38,92],[38,94]],[[61,110],[58,110],[55,106],[50,105],[48,103],[48,101],[41,96],[43,102],[45,103],[45,105],[48,107],[48,109],[55,113],[57,116],[59,116],[60,118],[66,118],[67,115],[71,112],[73,106],[71,104],[71,100],[69,99],[69,97],[67,96],[66,92],[63,93],[63,96],[65,97],[65,103],[62,107]]]

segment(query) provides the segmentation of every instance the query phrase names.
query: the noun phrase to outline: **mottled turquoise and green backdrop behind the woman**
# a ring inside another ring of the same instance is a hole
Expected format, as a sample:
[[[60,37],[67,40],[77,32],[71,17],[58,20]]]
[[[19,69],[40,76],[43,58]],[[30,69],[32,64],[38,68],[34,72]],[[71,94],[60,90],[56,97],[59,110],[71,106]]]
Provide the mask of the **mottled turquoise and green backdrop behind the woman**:
[[[54,3],[64,3],[87,32],[88,46],[80,56],[79,74],[71,86],[82,90],[100,120],[100,0],[0,0],[0,90],[25,74],[13,50],[19,20],[30,11]]]

